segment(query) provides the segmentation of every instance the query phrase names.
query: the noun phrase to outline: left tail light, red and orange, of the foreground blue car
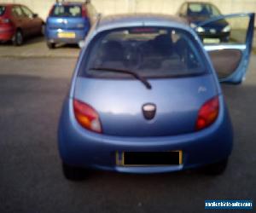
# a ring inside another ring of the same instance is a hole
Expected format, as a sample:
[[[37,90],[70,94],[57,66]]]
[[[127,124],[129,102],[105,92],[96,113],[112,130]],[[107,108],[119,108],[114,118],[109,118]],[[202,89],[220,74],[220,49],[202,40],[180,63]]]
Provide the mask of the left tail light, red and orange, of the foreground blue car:
[[[73,100],[73,110],[77,121],[87,130],[102,133],[102,124],[98,113],[84,102]]]

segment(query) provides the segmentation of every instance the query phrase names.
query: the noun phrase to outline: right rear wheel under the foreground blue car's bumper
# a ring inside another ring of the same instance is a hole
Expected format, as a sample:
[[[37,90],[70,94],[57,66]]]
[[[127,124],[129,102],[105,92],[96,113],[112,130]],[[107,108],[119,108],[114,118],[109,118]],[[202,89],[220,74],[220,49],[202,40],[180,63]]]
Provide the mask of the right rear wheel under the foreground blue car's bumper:
[[[224,173],[228,165],[228,158],[221,160],[215,164],[209,164],[202,168],[202,171],[207,175],[218,176]]]

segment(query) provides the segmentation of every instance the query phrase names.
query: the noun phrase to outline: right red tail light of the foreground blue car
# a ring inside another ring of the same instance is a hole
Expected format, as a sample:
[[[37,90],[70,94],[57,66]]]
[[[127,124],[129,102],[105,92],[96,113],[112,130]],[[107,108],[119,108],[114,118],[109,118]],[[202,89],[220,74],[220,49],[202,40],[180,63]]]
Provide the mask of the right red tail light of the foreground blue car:
[[[218,105],[218,96],[204,103],[198,113],[195,130],[202,130],[213,124],[218,118]]]

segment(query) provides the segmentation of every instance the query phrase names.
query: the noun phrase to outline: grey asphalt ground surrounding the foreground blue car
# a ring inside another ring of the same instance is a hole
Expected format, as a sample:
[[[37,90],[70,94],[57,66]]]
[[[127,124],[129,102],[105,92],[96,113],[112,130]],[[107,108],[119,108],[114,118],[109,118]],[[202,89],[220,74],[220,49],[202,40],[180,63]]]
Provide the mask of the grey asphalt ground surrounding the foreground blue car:
[[[79,49],[61,47],[52,56],[38,50],[34,55],[3,55],[12,51],[22,52],[0,45],[1,213],[216,212],[204,210],[205,199],[253,199],[255,211],[256,55],[245,83],[222,84],[235,132],[224,175],[96,171],[86,181],[71,182],[62,176],[56,130]]]

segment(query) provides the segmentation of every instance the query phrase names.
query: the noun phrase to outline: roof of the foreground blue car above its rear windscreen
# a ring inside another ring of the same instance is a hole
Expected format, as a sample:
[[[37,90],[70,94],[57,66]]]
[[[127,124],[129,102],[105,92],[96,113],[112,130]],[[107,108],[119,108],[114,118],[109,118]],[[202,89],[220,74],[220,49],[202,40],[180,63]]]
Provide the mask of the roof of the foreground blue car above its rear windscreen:
[[[170,14],[112,14],[103,16],[98,22],[98,27],[128,26],[132,23],[170,22],[178,25],[187,25],[187,21]]]

